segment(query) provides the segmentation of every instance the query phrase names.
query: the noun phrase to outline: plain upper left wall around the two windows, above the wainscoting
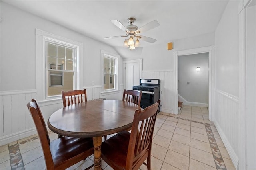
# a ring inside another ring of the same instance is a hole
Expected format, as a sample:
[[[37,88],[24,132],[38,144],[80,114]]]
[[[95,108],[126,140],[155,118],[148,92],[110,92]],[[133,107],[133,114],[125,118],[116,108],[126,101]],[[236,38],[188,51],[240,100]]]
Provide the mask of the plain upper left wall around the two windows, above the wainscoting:
[[[0,90],[25,90],[35,89],[35,55],[36,55],[36,34],[35,29],[42,29],[61,37],[65,37],[84,44],[84,85],[101,84],[101,49],[116,53],[116,51],[103,43],[85,37],[79,33],[66,29],[60,25],[44,20],[37,16],[31,15],[22,10],[18,10],[4,2],[1,2],[0,37],[1,37],[1,83]],[[6,63],[12,63],[6,64]],[[122,63],[122,59],[120,61]],[[22,68],[21,64],[29,67]],[[122,68],[122,64],[120,65]],[[10,70],[6,72],[6,70]],[[95,70],[92,75],[88,70]],[[20,76],[17,73],[23,76]],[[4,73],[4,74],[3,74]],[[30,74],[28,74],[30,73]],[[26,76],[27,81],[24,81]],[[12,77],[12,78],[10,78]],[[17,86],[17,82],[19,86]],[[121,81],[122,82],[122,78]]]

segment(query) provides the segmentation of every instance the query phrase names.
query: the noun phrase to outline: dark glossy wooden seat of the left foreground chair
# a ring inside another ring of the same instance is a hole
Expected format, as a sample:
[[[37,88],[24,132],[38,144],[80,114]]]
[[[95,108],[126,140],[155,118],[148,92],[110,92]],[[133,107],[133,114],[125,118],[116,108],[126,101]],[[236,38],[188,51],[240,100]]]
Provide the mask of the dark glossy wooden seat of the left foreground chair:
[[[56,169],[65,169],[70,166],[70,160],[94,153],[92,138],[61,137],[50,143],[50,150]]]

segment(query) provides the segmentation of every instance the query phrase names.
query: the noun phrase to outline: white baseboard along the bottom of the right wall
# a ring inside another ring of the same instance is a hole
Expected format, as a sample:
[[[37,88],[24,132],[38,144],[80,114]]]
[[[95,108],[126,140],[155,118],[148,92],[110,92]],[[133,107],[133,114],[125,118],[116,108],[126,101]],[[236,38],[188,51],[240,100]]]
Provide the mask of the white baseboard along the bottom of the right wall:
[[[238,170],[238,156],[236,155],[234,149],[231,147],[230,143],[228,142],[228,139],[226,138],[226,135],[224,134],[224,132],[220,128],[220,125],[218,124],[218,122],[215,119],[214,119],[214,125],[223,141],[224,146],[226,147],[226,149],[228,151],[228,154],[229,154],[235,168]]]

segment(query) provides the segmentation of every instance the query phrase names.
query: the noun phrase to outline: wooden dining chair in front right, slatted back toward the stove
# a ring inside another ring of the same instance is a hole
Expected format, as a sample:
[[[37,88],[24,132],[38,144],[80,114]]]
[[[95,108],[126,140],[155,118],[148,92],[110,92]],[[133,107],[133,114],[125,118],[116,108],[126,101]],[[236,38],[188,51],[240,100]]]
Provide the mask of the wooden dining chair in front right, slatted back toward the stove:
[[[102,143],[102,159],[113,169],[137,170],[146,164],[151,170],[151,145],[159,106],[160,100],[144,110],[137,109],[131,133],[119,132]],[[145,160],[147,163],[144,163]]]

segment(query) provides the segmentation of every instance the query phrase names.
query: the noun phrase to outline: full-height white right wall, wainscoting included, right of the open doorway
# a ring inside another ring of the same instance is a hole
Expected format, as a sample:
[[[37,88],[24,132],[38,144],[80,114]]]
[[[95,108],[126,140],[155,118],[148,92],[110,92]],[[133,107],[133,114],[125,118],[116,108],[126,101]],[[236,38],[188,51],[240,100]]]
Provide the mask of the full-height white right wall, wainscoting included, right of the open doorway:
[[[236,168],[239,155],[239,3],[228,2],[215,31],[214,124]]]

